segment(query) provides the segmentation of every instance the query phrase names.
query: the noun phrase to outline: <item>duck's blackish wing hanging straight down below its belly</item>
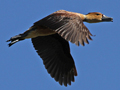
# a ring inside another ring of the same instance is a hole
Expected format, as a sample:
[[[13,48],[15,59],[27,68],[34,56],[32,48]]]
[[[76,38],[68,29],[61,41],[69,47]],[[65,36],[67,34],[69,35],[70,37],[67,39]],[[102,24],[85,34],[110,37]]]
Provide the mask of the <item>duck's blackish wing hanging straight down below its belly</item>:
[[[65,86],[71,85],[77,71],[70,54],[69,44],[58,34],[32,38],[34,48],[43,59],[48,73],[56,81]]]

